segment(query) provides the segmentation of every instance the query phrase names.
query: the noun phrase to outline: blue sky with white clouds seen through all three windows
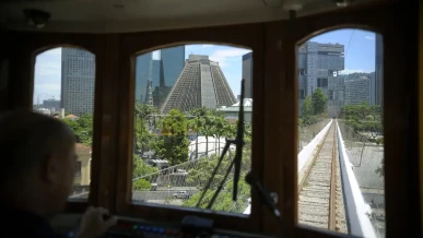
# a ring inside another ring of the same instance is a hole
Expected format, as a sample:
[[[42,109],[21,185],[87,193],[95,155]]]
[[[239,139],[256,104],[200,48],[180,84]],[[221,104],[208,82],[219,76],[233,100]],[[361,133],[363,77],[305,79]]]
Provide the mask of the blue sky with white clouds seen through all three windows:
[[[339,43],[345,46],[345,70],[343,73],[372,72],[375,70],[375,34],[361,29],[339,29],[310,39],[318,43]],[[218,61],[235,96],[239,94],[242,57],[249,49],[218,45],[187,45],[186,58],[190,53],[208,55]],[[153,53],[157,58],[158,53]],[[34,103],[43,99],[60,99],[61,49],[55,48],[36,57]]]

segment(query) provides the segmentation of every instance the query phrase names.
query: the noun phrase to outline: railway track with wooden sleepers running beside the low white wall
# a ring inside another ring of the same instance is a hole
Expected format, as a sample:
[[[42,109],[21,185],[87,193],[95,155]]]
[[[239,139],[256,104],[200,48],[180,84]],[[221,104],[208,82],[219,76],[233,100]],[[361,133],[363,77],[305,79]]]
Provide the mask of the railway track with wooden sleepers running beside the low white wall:
[[[348,234],[333,121],[298,183],[298,223]]]

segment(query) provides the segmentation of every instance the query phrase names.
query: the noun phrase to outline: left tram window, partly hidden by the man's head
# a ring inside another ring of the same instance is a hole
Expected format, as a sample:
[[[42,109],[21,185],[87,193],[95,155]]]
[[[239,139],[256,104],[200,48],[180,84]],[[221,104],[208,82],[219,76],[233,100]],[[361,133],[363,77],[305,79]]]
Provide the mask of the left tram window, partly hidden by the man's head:
[[[62,120],[77,136],[79,171],[71,200],[86,200],[91,181],[95,56],[60,47],[36,56],[33,109]]]

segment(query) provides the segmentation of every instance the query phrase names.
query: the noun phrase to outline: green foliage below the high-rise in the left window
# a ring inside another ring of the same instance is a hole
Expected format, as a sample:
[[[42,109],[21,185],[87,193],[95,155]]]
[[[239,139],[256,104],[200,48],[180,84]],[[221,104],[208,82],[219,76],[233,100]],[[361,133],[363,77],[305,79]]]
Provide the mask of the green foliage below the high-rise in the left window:
[[[79,119],[64,118],[62,120],[73,130],[78,143],[91,146],[93,143],[93,115],[83,114]]]

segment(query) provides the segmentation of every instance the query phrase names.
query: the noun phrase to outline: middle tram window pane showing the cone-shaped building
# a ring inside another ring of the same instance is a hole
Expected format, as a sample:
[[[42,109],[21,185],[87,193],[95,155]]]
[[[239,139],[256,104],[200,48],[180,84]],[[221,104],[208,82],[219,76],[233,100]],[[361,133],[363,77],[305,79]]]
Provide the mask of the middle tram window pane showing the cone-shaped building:
[[[207,209],[223,183],[211,209],[248,214],[250,189],[244,177],[251,164],[251,50],[219,45],[163,48],[137,56],[134,72],[132,202]],[[236,134],[242,79],[247,143],[233,202],[234,170],[227,179],[224,175],[235,145],[210,179],[225,138]]]

